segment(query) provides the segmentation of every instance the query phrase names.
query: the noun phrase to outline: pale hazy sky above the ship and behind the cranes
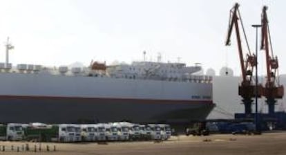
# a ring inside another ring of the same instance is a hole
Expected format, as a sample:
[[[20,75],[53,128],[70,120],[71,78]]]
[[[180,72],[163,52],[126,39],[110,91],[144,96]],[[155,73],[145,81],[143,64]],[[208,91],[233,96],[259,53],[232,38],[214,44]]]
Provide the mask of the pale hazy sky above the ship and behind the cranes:
[[[232,0],[1,0],[0,62],[5,61],[4,42],[10,36],[15,50],[13,64],[59,66],[90,60],[130,63],[147,59],[202,63],[218,73],[222,66],[240,74],[236,39],[225,46]],[[263,5],[269,6],[269,24],[278,55],[280,73],[286,73],[283,48],[285,1],[245,0],[240,12],[252,51]],[[244,44],[245,46],[245,44]],[[259,72],[265,73],[265,55],[259,51]]]

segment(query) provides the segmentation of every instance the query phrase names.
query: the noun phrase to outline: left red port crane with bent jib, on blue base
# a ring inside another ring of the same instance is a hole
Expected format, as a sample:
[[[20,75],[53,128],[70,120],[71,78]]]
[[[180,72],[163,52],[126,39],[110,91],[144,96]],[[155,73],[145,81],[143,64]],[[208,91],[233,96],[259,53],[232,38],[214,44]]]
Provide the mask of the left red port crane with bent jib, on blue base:
[[[243,27],[242,24],[242,18],[240,16],[240,11],[238,10],[239,4],[236,3],[233,8],[230,10],[230,15],[229,15],[229,28],[227,30],[227,40],[225,42],[226,46],[230,46],[230,37],[231,37],[231,32],[233,29],[233,26],[236,29],[236,40],[238,44],[238,53],[239,53],[239,58],[240,58],[240,67],[241,67],[241,72],[242,72],[242,82],[240,86],[238,86],[238,94],[242,97],[242,103],[245,105],[245,113],[250,114],[251,113],[251,104],[253,102],[253,99],[256,96],[256,86],[253,81],[253,71],[254,67],[256,66],[257,59],[256,55],[250,52],[249,44],[247,42],[247,36],[245,34],[245,28]],[[240,20],[240,22],[238,22]],[[243,35],[245,37],[245,42],[247,44],[247,55],[246,55],[246,60],[244,60],[243,57],[243,51],[242,51],[242,43],[241,43],[241,38],[240,38],[240,26],[243,31]],[[261,92],[262,92],[262,85],[258,85],[258,97],[261,97]]]

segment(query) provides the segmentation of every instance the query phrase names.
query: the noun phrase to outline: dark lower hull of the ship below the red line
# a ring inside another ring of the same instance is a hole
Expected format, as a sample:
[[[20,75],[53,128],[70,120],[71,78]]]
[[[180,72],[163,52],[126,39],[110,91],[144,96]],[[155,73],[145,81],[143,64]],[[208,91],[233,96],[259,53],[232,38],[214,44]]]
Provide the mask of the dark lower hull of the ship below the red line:
[[[193,100],[2,95],[0,122],[189,122],[206,118],[214,106],[211,101]]]

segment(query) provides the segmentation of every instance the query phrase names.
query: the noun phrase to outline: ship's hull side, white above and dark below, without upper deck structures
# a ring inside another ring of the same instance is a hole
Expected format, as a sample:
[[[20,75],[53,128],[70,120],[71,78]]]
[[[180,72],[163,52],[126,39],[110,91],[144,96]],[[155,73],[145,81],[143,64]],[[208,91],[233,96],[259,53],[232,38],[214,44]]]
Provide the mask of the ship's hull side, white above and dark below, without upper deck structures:
[[[212,84],[0,73],[0,122],[187,122],[207,117]]]

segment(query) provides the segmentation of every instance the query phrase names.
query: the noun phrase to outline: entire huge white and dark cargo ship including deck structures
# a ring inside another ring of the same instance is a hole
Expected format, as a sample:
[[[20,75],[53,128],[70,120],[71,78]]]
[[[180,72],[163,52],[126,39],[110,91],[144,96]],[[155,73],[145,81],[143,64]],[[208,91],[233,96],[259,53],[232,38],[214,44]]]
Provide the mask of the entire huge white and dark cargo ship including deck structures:
[[[7,46],[8,48],[8,46]],[[201,66],[133,62],[46,67],[0,63],[0,122],[178,122],[215,106]]]

